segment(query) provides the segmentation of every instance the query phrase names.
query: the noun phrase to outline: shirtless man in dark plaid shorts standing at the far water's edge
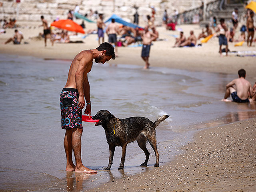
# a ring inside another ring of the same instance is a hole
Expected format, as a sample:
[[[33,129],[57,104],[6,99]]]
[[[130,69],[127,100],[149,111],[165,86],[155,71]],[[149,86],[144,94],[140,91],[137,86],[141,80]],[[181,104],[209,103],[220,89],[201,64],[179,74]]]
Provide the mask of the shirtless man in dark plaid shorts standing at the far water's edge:
[[[144,69],[149,68],[149,63],[148,63],[148,58],[149,58],[149,52],[150,52],[150,46],[151,42],[157,38],[156,34],[148,30],[148,26],[146,25],[144,28],[144,32],[141,36],[142,38],[142,52],[141,52],[141,57],[145,61],[145,66]]]

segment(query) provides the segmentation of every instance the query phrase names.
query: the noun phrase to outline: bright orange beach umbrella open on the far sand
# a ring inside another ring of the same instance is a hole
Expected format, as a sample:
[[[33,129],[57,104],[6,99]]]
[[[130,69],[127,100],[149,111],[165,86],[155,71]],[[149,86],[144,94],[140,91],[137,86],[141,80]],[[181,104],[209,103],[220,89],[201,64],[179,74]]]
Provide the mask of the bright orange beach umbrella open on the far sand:
[[[67,20],[58,20],[54,21],[51,26],[60,28],[60,29],[66,29],[68,31],[75,31],[79,33],[84,33],[83,28],[75,23],[74,21],[67,19]]]

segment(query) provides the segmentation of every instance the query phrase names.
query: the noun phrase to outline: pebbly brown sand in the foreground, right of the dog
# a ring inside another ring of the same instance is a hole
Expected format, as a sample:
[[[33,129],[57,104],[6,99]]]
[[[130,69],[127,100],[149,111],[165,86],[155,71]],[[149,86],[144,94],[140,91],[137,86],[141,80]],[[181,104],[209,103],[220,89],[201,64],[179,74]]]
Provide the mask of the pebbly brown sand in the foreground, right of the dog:
[[[88,191],[253,192],[255,140],[256,118],[200,130],[172,162]]]

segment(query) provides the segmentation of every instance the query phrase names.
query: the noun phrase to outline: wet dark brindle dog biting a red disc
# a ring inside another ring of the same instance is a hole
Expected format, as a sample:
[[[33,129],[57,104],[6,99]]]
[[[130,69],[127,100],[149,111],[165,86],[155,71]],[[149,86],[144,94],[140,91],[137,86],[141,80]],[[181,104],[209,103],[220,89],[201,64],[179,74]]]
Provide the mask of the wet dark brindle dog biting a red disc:
[[[136,140],[139,147],[146,155],[145,162],[140,166],[147,166],[148,164],[150,154],[146,148],[146,142],[148,141],[156,155],[156,164],[154,164],[154,167],[159,167],[159,154],[156,148],[156,127],[160,124],[160,122],[168,117],[169,115],[163,115],[158,117],[155,122],[152,122],[145,117],[129,117],[126,119],[119,119],[111,114],[108,110],[98,111],[95,116],[92,116],[92,119],[100,120],[95,124],[95,126],[102,125],[104,128],[110,153],[108,166],[104,168],[104,170],[110,170],[116,146],[122,147],[121,163],[118,169],[124,169],[126,147],[128,144]]]

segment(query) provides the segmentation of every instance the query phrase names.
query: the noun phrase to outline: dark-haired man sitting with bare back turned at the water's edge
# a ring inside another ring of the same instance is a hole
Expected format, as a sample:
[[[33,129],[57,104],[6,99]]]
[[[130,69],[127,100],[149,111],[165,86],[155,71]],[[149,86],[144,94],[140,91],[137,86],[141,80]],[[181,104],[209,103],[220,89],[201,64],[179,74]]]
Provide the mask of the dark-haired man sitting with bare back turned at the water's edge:
[[[227,98],[232,96],[234,102],[237,103],[246,103],[246,102],[253,102],[256,100],[256,94],[253,94],[252,85],[248,80],[245,79],[246,72],[244,69],[240,69],[238,71],[239,78],[232,80],[226,85],[226,93],[224,99],[222,101],[231,102]],[[234,87],[235,85],[235,87]],[[249,98],[249,94],[250,97]]]

